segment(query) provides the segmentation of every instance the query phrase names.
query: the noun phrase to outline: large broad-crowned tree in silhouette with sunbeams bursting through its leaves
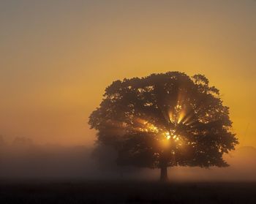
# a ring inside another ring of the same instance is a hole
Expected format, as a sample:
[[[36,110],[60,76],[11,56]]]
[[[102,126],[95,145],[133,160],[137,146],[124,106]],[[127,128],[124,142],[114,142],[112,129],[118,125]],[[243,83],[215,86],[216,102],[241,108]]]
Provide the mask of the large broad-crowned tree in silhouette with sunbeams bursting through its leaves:
[[[105,89],[89,124],[97,142],[113,146],[118,165],[226,167],[222,155],[238,140],[228,107],[204,75],[181,72],[116,80]]]

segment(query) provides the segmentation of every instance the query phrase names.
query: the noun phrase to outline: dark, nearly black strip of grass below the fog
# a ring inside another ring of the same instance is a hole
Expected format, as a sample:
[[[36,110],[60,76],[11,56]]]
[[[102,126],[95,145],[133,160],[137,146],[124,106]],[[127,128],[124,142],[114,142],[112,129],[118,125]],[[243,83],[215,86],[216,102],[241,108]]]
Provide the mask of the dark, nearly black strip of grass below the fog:
[[[256,203],[256,183],[0,183],[0,203]]]

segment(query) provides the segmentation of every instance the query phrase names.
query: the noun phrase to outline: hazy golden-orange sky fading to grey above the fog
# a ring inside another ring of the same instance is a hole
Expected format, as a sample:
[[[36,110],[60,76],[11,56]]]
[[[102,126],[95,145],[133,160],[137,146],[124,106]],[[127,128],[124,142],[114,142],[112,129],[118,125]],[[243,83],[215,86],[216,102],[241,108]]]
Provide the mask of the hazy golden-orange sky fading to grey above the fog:
[[[256,1],[0,0],[0,135],[91,146],[113,80],[206,75],[256,147]]]

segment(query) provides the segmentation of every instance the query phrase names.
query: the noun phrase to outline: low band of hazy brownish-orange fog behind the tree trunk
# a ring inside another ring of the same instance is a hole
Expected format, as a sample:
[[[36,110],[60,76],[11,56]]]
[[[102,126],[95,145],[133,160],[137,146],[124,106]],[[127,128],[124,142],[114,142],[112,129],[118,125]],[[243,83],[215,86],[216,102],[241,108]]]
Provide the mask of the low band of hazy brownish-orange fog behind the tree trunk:
[[[116,152],[105,147],[37,144],[26,137],[0,137],[0,179],[157,180],[159,170],[118,167]],[[256,148],[244,146],[225,155],[230,167],[169,167],[170,181],[256,181]]]

